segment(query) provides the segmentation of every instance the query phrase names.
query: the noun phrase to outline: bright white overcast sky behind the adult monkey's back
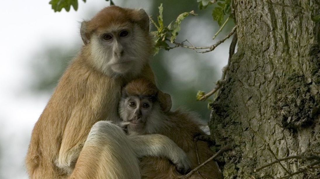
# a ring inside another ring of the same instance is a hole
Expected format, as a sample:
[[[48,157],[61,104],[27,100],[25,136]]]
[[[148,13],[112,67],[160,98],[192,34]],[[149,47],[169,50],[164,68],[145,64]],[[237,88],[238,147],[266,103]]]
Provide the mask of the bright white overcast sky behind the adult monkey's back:
[[[143,1],[142,4],[138,4],[137,2],[141,3],[138,0],[114,2],[124,7],[143,8],[147,12],[152,6],[152,1]],[[88,0],[85,4],[79,0],[78,11],[71,9],[70,12],[63,10],[54,13],[49,0],[1,2],[0,178],[27,178],[23,160],[31,130],[50,97],[50,94],[30,95],[26,92],[31,81],[30,68],[27,68],[30,58],[51,44],[63,47],[80,46],[82,41],[79,36],[79,22],[90,19],[108,4],[109,2],[104,0]],[[198,23],[197,20],[193,22]],[[212,63],[221,61],[223,58]],[[174,62],[179,63],[179,59]],[[223,65],[224,63],[221,63],[219,66]],[[177,72],[177,75],[181,75],[179,69]],[[182,73],[182,77],[187,75]]]

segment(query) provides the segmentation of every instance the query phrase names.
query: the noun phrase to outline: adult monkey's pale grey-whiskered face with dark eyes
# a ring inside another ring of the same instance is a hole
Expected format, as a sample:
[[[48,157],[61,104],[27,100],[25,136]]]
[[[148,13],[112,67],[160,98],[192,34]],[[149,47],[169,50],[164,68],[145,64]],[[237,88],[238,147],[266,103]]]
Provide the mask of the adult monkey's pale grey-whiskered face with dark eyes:
[[[130,23],[97,30],[91,39],[95,65],[107,75],[140,73],[149,56],[148,50],[143,50],[144,36],[139,26]]]

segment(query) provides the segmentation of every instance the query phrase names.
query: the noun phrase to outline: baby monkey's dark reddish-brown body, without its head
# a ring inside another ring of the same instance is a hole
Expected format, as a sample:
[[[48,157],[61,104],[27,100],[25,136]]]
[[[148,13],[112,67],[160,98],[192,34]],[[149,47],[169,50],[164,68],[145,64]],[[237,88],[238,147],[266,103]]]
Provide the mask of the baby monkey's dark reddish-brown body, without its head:
[[[198,135],[205,134],[200,129],[201,124],[197,122],[198,117],[193,113],[182,110],[168,112],[167,115],[169,118],[164,119],[162,131],[158,133],[169,137],[182,148],[192,162],[192,169],[196,168],[199,164],[193,139]],[[203,141],[197,141],[197,148],[200,163],[213,155],[208,144]],[[140,166],[141,175],[144,179],[175,179],[181,176],[176,171],[175,166],[164,158],[145,157],[141,160]],[[196,172],[190,178],[222,179],[221,171],[215,161],[210,161],[198,171],[200,175]]]

